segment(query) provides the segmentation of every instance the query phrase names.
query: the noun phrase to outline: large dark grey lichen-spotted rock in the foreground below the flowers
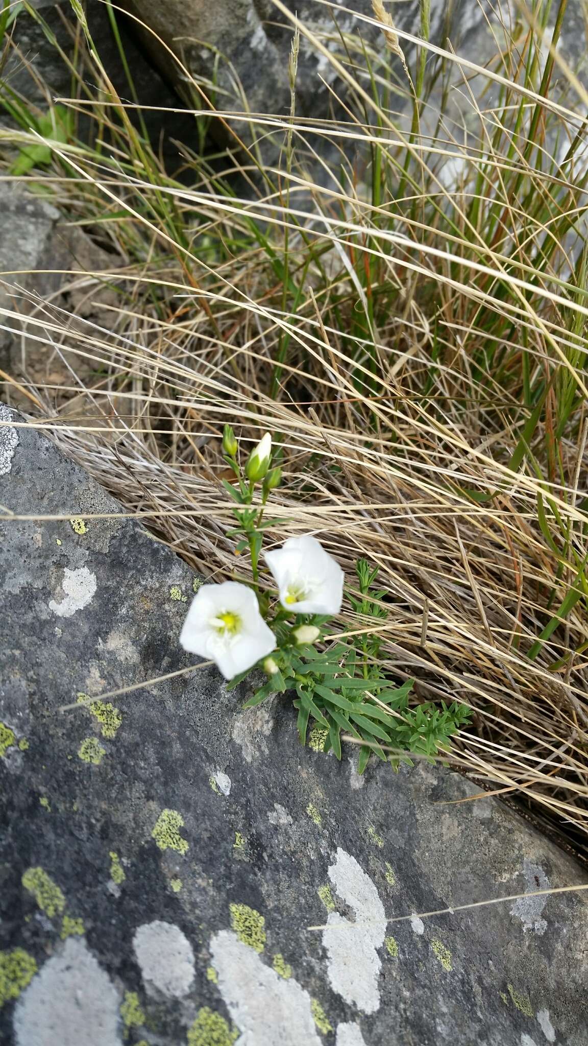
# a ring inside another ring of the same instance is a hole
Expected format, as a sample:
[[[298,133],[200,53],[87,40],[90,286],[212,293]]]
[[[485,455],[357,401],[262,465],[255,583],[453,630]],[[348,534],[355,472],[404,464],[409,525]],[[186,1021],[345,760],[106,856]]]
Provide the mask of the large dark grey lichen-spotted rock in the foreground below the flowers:
[[[462,777],[362,780],[212,668],[59,711],[190,663],[193,575],[13,431],[0,503],[68,518],[0,531],[1,1041],[585,1046],[585,894],[419,915],[586,878]]]

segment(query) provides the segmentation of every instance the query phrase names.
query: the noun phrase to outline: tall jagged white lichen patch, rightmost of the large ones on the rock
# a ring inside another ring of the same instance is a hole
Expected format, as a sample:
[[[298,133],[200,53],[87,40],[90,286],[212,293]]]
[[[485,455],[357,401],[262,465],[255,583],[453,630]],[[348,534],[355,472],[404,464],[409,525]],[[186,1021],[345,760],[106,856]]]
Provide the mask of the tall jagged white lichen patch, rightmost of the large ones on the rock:
[[[342,901],[355,913],[355,922],[339,912],[329,912],[322,932],[331,986],[345,1002],[365,1014],[380,1007],[378,979],[382,962],[378,949],[384,943],[386,914],[376,886],[356,859],[337,850],[329,878]]]

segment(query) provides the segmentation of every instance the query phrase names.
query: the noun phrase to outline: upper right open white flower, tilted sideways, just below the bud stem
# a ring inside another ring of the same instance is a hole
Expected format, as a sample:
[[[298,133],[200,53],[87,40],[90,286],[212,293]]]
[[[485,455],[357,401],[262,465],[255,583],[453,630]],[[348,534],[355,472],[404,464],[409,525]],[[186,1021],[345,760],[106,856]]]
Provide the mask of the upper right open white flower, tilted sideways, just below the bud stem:
[[[281,548],[266,552],[279,589],[279,601],[295,614],[338,614],[344,574],[316,538],[289,538]]]

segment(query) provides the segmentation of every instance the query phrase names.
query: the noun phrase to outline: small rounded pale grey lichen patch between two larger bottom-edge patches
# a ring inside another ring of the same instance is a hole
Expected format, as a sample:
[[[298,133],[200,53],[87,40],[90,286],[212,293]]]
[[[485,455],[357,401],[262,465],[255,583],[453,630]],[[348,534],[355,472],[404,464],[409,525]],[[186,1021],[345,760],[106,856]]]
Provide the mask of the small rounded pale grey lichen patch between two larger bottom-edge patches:
[[[144,923],[133,937],[133,948],[149,995],[161,992],[181,999],[194,983],[194,951],[174,923]],[[155,990],[155,991],[154,991]]]

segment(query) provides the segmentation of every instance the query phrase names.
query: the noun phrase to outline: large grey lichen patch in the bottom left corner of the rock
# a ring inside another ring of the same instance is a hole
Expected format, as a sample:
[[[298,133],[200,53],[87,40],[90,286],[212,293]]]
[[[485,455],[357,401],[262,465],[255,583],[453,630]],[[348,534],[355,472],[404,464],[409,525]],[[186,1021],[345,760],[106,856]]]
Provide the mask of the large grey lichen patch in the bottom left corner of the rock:
[[[121,1046],[118,994],[83,937],[68,937],[21,995],[17,1046]]]

